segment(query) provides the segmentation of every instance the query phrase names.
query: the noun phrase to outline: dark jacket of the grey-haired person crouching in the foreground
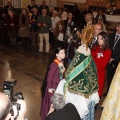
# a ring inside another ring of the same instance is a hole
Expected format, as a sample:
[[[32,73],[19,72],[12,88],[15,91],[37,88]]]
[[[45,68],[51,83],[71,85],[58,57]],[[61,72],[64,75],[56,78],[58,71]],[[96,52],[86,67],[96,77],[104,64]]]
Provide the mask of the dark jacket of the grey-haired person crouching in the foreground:
[[[81,120],[77,109],[71,103],[68,103],[59,111],[50,113],[46,120]]]

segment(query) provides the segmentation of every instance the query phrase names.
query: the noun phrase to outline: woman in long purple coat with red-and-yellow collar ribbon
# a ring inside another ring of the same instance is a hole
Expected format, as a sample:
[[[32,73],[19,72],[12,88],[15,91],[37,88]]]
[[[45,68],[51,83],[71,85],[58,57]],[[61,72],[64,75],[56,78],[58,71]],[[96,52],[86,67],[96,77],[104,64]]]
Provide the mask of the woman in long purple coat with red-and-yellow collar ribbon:
[[[42,120],[45,120],[51,105],[51,96],[55,92],[59,82],[63,79],[63,73],[65,71],[63,65],[63,59],[65,58],[65,50],[63,47],[57,47],[55,49],[54,60],[48,68],[45,80],[42,86],[42,103],[40,116]],[[46,85],[45,85],[46,84]]]

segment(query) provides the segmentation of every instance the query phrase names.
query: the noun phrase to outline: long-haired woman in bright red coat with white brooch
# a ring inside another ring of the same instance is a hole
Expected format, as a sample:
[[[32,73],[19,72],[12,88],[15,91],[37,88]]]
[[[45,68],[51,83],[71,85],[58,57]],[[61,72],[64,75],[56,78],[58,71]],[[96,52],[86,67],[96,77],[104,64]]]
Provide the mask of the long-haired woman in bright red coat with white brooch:
[[[97,67],[99,97],[102,97],[106,66],[111,57],[111,51],[108,46],[108,35],[106,32],[99,33],[97,44],[93,46],[91,54]]]

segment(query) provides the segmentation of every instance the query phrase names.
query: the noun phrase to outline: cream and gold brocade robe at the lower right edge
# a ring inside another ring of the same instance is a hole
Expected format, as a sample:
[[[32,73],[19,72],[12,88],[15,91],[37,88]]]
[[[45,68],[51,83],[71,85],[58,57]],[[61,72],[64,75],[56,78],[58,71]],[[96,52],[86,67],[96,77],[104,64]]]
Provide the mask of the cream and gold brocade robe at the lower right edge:
[[[100,120],[120,120],[120,63],[114,74]]]

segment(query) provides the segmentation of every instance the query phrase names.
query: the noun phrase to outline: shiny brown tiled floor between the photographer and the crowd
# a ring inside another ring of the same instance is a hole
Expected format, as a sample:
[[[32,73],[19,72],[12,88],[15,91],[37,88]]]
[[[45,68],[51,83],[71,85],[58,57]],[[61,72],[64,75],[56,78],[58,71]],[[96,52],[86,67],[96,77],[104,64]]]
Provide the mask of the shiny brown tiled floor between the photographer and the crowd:
[[[50,56],[36,49],[0,45],[0,90],[4,80],[17,79],[14,93],[23,93],[29,120],[40,120],[40,87],[49,59]],[[97,110],[95,120],[99,120],[100,115],[101,110]]]

